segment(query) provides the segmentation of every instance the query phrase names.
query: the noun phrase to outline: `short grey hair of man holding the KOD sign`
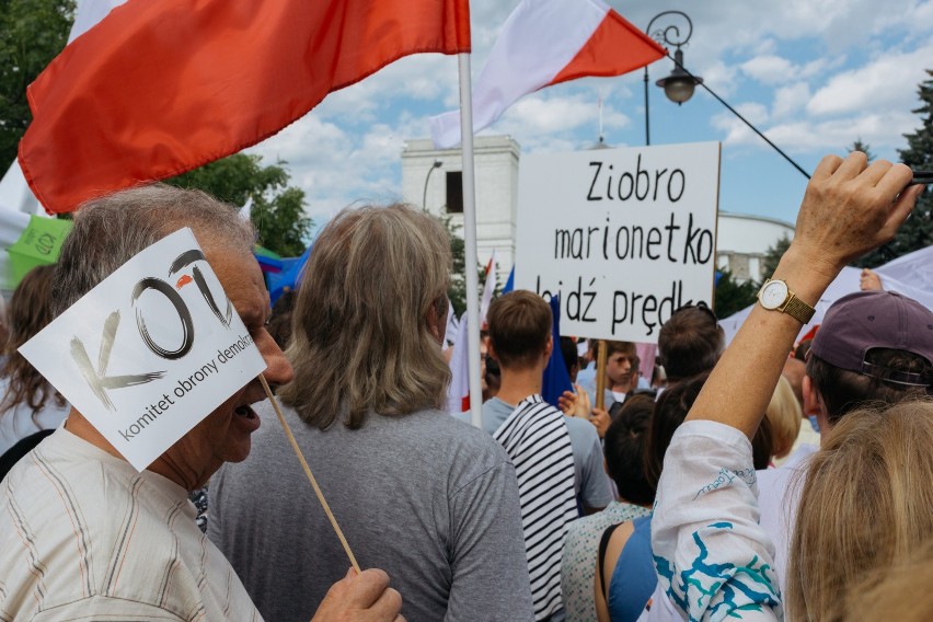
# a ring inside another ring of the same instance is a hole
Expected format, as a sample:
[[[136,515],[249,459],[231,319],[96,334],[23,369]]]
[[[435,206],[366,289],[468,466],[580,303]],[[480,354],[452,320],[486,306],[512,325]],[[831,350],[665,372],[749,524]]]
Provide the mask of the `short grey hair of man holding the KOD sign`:
[[[154,184],[85,203],[61,246],[53,280],[57,316],[134,255],[184,227],[211,253],[249,254],[253,226],[200,191]]]

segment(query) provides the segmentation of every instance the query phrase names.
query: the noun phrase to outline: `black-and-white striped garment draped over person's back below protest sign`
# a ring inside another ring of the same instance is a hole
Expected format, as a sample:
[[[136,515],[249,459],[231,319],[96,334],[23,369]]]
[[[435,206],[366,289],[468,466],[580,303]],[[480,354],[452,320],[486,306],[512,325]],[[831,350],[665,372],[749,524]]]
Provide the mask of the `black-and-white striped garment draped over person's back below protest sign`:
[[[515,464],[535,620],[561,611],[561,556],[577,518],[574,454],[564,415],[539,394],[526,398],[493,435]]]

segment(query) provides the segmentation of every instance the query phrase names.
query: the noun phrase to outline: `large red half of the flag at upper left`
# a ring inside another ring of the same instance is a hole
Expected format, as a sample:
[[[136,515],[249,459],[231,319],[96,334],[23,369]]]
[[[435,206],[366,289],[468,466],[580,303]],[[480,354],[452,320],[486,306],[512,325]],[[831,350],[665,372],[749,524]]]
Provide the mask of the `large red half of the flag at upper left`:
[[[403,56],[469,50],[468,0],[129,0],[30,85],[20,164],[70,211],[255,145]]]

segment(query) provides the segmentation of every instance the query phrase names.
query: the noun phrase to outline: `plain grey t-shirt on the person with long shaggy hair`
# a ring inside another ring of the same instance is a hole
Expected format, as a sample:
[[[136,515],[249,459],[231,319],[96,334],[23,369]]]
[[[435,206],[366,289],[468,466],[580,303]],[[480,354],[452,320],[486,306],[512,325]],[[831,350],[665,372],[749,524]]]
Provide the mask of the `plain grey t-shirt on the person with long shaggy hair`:
[[[208,535],[266,620],[307,622],[349,561],[268,402],[242,463],[210,483]],[[285,408],[362,568],[389,573],[408,622],[532,620],[515,469],[440,411],[326,431]]]

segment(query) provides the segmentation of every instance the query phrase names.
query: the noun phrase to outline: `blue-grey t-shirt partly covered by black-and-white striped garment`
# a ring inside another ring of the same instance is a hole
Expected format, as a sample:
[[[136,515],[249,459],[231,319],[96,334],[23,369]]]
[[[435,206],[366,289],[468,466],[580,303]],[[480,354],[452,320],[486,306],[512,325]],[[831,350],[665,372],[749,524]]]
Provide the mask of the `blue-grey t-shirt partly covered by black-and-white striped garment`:
[[[515,406],[498,398],[487,400],[483,403],[483,429],[495,434],[512,411]],[[576,417],[565,416],[564,422],[574,450],[574,492],[577,499],[586,507],[604,508],[614,497],[609,475],[602,468],[602,446],[596,426]]]

